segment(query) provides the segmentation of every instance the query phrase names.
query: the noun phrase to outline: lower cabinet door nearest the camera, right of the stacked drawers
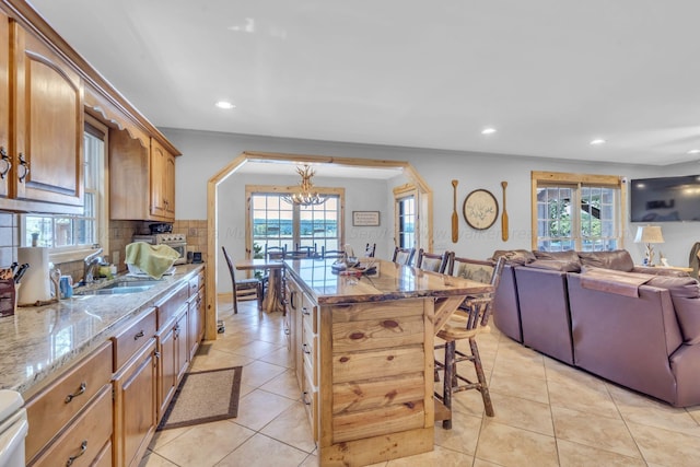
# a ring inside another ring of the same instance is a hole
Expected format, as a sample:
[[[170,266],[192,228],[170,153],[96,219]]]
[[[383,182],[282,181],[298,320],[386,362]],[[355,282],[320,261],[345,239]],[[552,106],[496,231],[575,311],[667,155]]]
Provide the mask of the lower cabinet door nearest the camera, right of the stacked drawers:
[[[115,389],[115,465],[138,466],[156,427],[155,339],[118,372]]]

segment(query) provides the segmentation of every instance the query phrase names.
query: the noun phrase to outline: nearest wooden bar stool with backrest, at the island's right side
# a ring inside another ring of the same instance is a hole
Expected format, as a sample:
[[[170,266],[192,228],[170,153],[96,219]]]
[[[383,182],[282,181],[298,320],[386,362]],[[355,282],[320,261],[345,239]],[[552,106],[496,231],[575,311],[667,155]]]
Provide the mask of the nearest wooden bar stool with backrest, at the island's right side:
[[[435,375],[443,371],[442,394],[435,392],[435,397],[451,411],[450,418],[443,420],[442,428],[452,429],[452,396],[462,390],[477,389],[481,393],[483,408],[488,417],[493,417],[493,404],[489,394],[489,385],[483,374],[483,365],[477,346],[477,336],[482,332],[490,332],[489,317],[493,304],[495,289],[499,287],[505,257],[501,256],[495,265],[487,261],[472,260],[468,258],[454,257],[450,265],[451,276],[464,277],[463,272],[470,266],[486,268],[490,266],[491,275],[489,283],[493,292],[467,296],[453,313],[447,323],[438,331],[438,337],[445,342],[435,346],[435,349],[444,349],[444,360],[435,360]],[[456,268],[456,269],[455,269]],[[457,350],[457,341],[468,339],[469,350]],[[474,363],[477,381],[471,381],[464,374],[457,372],[457,363],[470,361]]]

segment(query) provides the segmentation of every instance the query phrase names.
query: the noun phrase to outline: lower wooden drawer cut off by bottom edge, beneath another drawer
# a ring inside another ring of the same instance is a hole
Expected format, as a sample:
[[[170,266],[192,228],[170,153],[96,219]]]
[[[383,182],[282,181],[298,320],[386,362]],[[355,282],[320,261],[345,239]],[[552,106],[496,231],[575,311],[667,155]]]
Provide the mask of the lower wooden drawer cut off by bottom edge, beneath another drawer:
[[[112,436],[112,386],[103,387],[91,404],[33,467],[90,466]],[[72,463],[68,464],[70,459]]]

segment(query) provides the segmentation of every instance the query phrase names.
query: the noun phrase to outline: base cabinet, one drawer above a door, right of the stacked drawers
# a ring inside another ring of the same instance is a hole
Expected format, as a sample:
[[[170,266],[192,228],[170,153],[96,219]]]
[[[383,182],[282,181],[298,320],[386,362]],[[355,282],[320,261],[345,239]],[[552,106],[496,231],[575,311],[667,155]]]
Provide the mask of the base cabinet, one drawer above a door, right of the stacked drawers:
[[[113,337],[114,464],[138,466],[158,425],[155,308]]]

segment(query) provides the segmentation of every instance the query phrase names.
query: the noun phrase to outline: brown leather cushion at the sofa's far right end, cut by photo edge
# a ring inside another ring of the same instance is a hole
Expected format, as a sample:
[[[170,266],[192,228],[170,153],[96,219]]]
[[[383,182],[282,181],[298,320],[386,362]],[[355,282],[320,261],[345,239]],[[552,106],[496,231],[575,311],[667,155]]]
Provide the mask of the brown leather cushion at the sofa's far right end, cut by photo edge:
[[[693,278],[655,276],[648,285],[668,289],[684,342],[700,342],[700,283]]]

